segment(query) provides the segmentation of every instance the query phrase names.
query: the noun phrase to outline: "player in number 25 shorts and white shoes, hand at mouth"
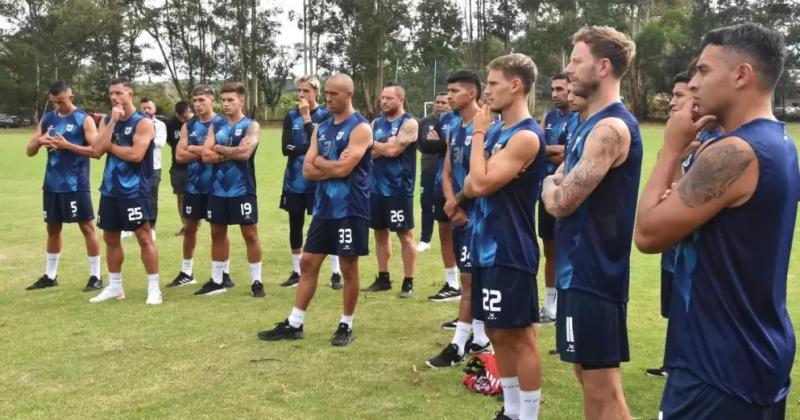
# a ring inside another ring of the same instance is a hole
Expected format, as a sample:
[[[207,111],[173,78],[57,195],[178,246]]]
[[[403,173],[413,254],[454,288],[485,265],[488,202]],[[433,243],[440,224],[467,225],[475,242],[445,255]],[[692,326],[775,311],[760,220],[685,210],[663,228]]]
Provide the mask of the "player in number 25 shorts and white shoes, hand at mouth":
[[[100,186],[97,226],[103,229],[109,285],[89,301],[92,303],[125,298],[122,288],[124,259],[120,232],[131,231],[141,249],[147,273],[148,305],[161,304],[158,282],[158,250],[150,233],[153,210],[150,188],[153,181],[153,122],[133,104],[133,85],[125,79],[112,80],[108,95],[111,114],[100,125],[98,141],[92,145],[95,156],[108,154]]]

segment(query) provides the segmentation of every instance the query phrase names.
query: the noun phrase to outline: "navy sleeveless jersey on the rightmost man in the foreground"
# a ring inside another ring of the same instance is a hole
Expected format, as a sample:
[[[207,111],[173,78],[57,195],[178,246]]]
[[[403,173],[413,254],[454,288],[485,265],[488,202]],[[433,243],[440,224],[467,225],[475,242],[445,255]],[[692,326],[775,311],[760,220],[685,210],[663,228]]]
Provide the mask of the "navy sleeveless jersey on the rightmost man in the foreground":
[[[800,198],[797,151],[772,120],[709,141],[726,137],[753,148],[758,183],[746,203],[678,244],[665,364],[767,405],[786,398],[795,354],[786,279]]]

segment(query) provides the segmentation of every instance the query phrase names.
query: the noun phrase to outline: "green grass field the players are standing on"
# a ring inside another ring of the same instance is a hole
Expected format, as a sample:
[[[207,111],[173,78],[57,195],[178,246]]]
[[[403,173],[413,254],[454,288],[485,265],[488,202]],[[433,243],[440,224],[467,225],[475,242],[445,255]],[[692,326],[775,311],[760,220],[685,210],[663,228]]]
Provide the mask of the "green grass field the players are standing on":
[[[643,182],[660,147],[661,131],[656,125],[643,129]],[[800,125],[791,131],[800,139]],[[361,295],[351,346],[333,348],[328,342],[341,311],[340,292],[325,287],[328,264],[306,315],[306,339],[256,339],[257,331],[286,317],[294,297],[294,289],[278,287],[291,269],[288,217],[277,205],[284,167],[278,130],[264,133],[256,164],[266,299],[249,296],[250,274],[237,230],[231,231],[231,270],[238,286],[224,295],[201,298],[192,295],[192,287],[164,289],[163,305],[145,307],[138,247],[128,240],[123,270],[127,299],[89,304],[89,294],[81,292],[87,263],[75,226],[64,230],[60,286],[25,291],[43,272],[45,242],[40,189],[45,154],[25,157],[30,135],[30,130],[0,132],[0,418],[487,419],[499,409],[493,398],[465,390],[460,369],[425,368],[425,359],[451,338],[439,324],[456,312],[454,303],[425,299],[444,279],[436,241],[419,256],[414,299],[398,299],[399,284],[391,293]],[[162,284],[177,274],[181,262],[181,239],[172,235],[180,226],[167,175],[168,151],[164,156],[156,242]],[[92,163],[95,206],[103,164]],[[207,226],[199,237],[195,275],[204,281],[210,275]],[[391,268],[398,280],[402,271],[396,241],[394,247]],[[789,273],[795,322],[800,322],[799,255],[795,247]],[[376,263],[374,256],[362,261],[365,285],[376,274]],[[632,361],[622,368],[623,381],[633,417],[653,419],[664,381],[646,377],[644,369],[658,366],[663,353],[666,321],[658,309],[659,260],[634,251],[631,265]],[[105,280],[105,264],[103,276]],[[541,417],[580,418],[580,388],[571,366],[547,355],[555,346],[554,336],[554,328],[540,329]],[[797,369],[792,379],[798,383]],[[799,400],[795,388],[787,403],[788,418],[800,418]]]

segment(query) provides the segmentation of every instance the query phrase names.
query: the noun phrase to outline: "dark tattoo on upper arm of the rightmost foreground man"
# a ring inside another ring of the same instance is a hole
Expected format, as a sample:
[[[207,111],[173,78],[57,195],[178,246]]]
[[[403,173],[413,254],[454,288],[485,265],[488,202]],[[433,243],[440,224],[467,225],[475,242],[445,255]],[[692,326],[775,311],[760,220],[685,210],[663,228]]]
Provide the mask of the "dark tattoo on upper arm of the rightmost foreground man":
[[[719,150],[703,153],[678,187],[681,201],[687,207],[697,207],[722,197],[744,173],[753,156],[735,145],[723,145]]]

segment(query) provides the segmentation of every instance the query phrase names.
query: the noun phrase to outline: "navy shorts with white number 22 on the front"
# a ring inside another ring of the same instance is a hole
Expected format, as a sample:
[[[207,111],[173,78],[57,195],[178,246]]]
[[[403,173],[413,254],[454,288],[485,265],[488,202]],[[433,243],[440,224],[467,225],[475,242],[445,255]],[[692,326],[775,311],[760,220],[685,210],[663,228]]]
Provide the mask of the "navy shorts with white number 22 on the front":
[[[536,275],[511,267],[472,267],[472,317],[486,328],[529,327],[539,321]]]

